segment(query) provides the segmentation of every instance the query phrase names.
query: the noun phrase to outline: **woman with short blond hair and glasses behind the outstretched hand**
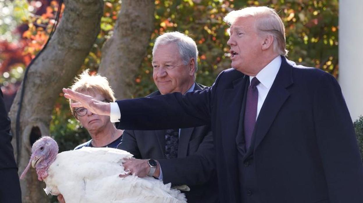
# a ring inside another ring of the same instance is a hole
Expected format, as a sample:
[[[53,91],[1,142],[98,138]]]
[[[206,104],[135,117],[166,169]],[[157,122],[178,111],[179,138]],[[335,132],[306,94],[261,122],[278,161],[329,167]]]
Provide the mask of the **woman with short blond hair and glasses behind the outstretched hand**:
[[[116,100],[107,78],[99,74],[90,75],[88,69],[75,78],[71,89],[103,102],[114,102]],[[70,100],[69,104],[73,102],[77,101]],[[75,149],[82,147],[117,148],[117,145],[121,143],[123,130],[116,129],[114,123],[110,122],[109,116],[94,114],[84,107],[71,107],[70,109],[74,117],[87,129],[92,138]]]

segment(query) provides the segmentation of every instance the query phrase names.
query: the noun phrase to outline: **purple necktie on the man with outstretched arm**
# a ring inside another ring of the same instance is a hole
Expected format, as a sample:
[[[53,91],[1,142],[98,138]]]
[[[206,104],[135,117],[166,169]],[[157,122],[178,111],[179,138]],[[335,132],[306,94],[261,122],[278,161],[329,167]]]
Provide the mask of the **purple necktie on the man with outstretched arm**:
[[[256,124],[257,102],[258,102],[258,90],[256,86],[258,84],[260,84],[260,81],[258,81],[256,77],[252,78],[251,84],[247,90],[245,119],[244,119],[246,150],[251,145],[252,133],[254,125]]]

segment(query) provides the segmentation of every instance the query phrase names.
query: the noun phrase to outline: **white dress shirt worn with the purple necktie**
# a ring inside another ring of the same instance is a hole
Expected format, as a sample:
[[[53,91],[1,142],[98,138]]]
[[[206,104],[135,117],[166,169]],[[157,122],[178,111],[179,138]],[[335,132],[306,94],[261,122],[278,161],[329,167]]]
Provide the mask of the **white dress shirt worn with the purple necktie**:
[[[262,105],[265,102],[266,96],[269,93],[273,81],[275,81],[278,70],[280,70],[281,66],[281,56],[277,56],[272,60],[269,64],[265,66],[260,72],[257,73],[256,78],[260,81],[260,84],[257,85],[258,90],[258,102],[257,102],[257,114],[260,113]],[[253,76],[250,76],[250,82],[252,81]]]

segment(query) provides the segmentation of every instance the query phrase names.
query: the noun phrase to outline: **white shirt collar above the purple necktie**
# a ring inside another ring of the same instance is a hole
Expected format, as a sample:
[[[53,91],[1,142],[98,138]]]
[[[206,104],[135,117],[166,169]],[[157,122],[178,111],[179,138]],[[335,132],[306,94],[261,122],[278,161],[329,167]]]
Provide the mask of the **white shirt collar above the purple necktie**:
[[[256,77],[260,83],[266,88],[271,88],[273,81],[276,78],[278,70],[280,70],[281,66],[281,56],[278,55],[274,60],[272,60],[269,64],[262,68],[259,73],[257,73]],[[254,78],[250,76],[250,82]]]

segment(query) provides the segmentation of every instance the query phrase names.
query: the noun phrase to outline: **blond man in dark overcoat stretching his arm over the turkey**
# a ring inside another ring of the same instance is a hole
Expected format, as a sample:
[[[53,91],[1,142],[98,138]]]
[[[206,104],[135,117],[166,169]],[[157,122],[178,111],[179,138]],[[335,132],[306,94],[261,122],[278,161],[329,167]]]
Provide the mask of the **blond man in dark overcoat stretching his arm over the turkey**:
[[[222,202],[362,203],[362,160],[335,78],[286,59],[284,24],[273,9],[244,8],[224,20],[232,68],[201,92],[117,101],[120,127],[211,123]],[[64,92],[75,106],[115,111]]]

